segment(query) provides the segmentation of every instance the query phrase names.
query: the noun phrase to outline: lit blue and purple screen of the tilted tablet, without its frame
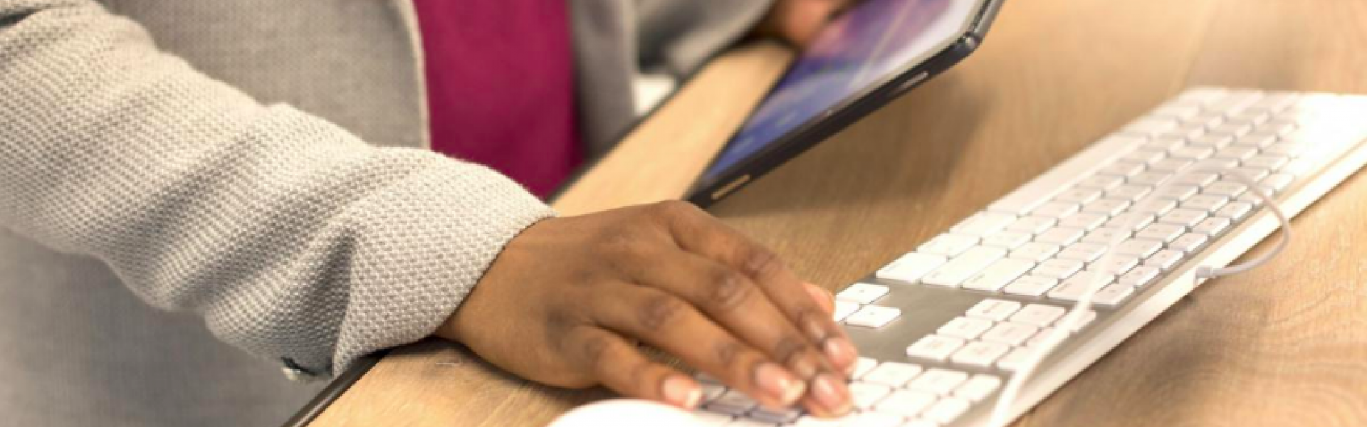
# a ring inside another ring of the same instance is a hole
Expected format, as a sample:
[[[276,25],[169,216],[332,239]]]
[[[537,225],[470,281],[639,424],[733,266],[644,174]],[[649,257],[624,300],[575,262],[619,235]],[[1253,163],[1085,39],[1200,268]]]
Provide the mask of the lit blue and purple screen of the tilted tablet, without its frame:
[[[865,0],[833,19],[703,174],[727,168],[958,40],[980,0]]]

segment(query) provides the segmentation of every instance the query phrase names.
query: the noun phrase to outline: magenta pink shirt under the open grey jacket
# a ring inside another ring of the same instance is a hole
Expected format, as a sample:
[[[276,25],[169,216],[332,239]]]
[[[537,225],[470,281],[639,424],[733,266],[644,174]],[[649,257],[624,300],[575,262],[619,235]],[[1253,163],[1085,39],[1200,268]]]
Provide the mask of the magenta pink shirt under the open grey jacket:
[[[545,197],[584,160],[565,1],[416,0],[432,149]]]

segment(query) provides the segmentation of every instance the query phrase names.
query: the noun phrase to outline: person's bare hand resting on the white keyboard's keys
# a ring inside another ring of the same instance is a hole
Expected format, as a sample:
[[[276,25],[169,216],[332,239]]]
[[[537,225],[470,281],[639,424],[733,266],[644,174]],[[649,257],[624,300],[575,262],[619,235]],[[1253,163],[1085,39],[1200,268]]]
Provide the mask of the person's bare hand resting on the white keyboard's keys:
[[[759,402],[849,412],[856,350],[831,294],[692,204],[547,219],[513,238],[437,335],[522,378],[694,408],[659,348]]]

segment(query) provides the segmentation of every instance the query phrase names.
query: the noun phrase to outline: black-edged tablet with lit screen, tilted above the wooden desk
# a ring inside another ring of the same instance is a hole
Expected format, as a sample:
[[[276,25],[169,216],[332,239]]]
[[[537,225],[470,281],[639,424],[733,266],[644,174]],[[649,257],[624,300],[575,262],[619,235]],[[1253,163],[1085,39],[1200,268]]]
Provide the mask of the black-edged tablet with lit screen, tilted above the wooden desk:
[[[833,19],[712,159],[707,207],[954,66],[1003,0],[864,0]]]

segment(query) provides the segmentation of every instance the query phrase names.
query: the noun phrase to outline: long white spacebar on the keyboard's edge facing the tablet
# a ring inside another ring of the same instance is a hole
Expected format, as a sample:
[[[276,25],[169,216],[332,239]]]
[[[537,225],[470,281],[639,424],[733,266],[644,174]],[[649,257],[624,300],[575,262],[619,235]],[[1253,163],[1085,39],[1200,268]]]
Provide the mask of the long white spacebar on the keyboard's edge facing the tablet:
[[[1079,181],[1092,175],[1096,170],[1111,164],[1120,156],[1126,155],[1133,148],[1132,137],[1113,134],[1092,144],[1092,146],[1073,155],[1064,163],[1036,177],[1031,182],[1017,187],[1010,194],[998,198],[987,207],[988,211],[1025,215],[1040,204],[1048,201],[1064,190],[1068,190]]]

